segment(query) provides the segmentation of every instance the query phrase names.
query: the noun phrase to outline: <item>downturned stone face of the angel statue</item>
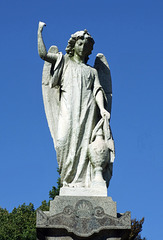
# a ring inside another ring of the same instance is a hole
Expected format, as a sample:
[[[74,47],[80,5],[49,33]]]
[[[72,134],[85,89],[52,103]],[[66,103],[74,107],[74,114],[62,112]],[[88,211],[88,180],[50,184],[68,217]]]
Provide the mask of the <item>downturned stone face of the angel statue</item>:
[[[74,53],[78,55],[81,59],[90,53],[90,44],[88,39],[78,39],[74,46]]]

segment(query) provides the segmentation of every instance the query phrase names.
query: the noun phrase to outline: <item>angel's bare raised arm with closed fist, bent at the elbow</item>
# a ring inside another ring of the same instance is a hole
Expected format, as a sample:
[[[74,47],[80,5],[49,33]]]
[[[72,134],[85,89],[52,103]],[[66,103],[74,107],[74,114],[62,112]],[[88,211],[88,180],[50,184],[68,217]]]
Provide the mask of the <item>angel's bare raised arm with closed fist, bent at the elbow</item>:
[[[39,56],[50,63],[55,63],[57,60],[58,55],[54,54],[54,53],[47,53],[46,51],[46,47],[42,38],[42,30],[43,27],[46,26],[46,24],[44,22],[39,22],[38,25],[38,53]]]

